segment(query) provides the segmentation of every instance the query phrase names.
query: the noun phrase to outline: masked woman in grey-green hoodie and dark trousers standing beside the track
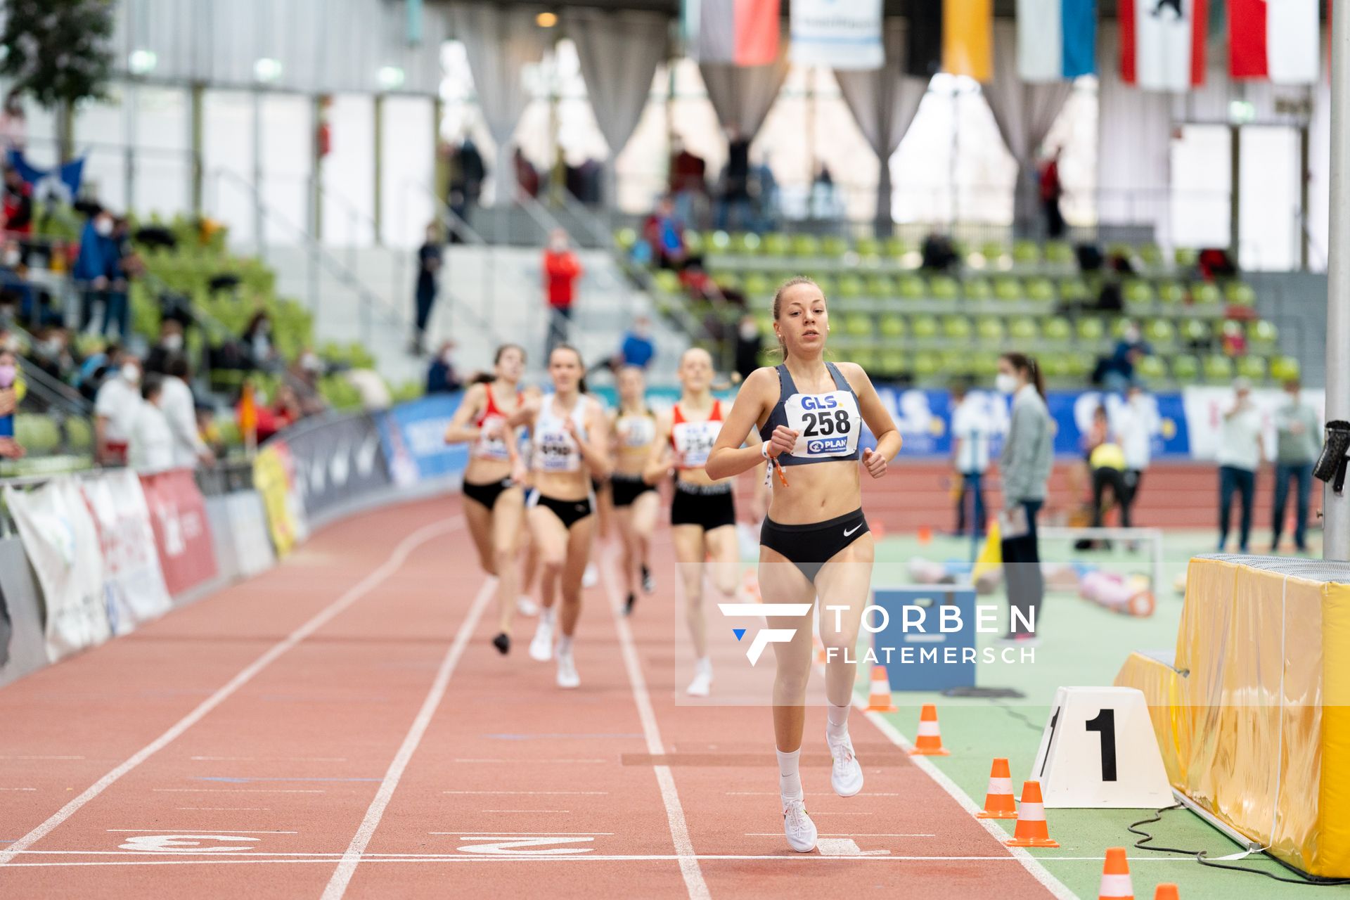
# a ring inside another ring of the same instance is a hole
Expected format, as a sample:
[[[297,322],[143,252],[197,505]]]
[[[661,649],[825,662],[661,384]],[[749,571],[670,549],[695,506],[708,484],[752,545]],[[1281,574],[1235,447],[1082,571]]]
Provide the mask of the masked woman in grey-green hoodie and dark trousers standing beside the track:
[[[1003,640],[1030,646],[1035,640],[1035,614],[1045,596],[1035,517],[1045,505],[1054,466],[1054,420],[1045,405],[1045,379],[1035,358],[1003,354],[994,383],[999,393],[1013,397],[1013,416],[999,457],[1003,476],[999,526],[1008,607],[1015,607],[1019,615],[1010,618]]]

